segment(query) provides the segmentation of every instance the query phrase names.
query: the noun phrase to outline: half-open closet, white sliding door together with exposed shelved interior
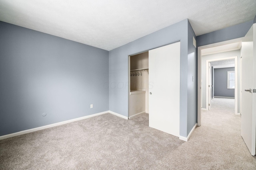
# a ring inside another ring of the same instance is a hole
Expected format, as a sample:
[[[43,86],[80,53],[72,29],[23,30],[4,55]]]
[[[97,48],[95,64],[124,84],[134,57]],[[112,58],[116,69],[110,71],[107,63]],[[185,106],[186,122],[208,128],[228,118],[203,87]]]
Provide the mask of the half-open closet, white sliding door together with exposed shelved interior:
[[[129,72],[129,118],[145,113],[147,105],[149,127],[180,137],[180,41],[130,55]]]

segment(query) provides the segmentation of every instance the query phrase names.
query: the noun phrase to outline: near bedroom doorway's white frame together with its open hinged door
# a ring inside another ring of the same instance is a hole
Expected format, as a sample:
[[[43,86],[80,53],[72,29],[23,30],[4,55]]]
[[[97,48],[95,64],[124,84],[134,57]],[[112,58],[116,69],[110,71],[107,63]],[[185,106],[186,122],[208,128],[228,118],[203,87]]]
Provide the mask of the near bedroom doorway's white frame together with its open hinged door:
[[[241,136],[244,140],[244,143],[246,144],[248,150],[252,154],[252,156],[256,153],[256,107],[254,105],[256,101],[256,96],[253,95],[253,93],[256,93],[255,88],[255,80],[256,80],[256,74],[255,68],[256,68],[256,62],[255,62],[255,33],[256,32],[256,26],[255,24],[252,25],[250,30],[246,33],[245,37],[233,39],[229,41],[223,41],[220,43],[210,44],[210,45],[204,45],[201,47],[198,47],[198,84],[201,83],[201,63],[202,63],[202,50],[207,49],[210,47],[217,47],[220,45],[226,45],[228,43],[234,43],[234,42],[242,42],[242,50],[241,55],[242,57],[242,106],[241,108]],[[241,61],[241,59],[239,60]],[[239,66],[240,64],[238,64]],[[240,68],[240,67],[239,67]],[[241,78],[241,77],[240,77]],[[241,84],[240,84],[241,85]],[[201,126],[201,108],[202,108],[202,87],[198,86],[198,126]],[[238,94],[241,94],[240,92]]]

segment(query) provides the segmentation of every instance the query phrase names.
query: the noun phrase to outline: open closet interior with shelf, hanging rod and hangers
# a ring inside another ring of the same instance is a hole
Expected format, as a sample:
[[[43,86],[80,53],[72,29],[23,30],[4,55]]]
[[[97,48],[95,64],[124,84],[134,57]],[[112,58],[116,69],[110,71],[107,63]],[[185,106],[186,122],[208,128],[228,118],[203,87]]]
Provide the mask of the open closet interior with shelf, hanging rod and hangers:
[[[129,119],[148,113],[148,52],[130,56]]]

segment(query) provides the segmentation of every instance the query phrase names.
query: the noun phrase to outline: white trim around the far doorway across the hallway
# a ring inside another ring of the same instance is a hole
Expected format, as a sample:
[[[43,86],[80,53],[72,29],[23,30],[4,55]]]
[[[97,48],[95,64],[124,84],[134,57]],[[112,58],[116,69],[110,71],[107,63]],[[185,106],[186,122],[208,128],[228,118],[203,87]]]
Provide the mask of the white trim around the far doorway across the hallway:
[[[225,57],[220,59],[211,59],[206,60],[206,110],[209,109],[208,103],[209,103],[209,93],[208,93],[208,85],[209,85],[209,69],[208,65],[212,61],[223,61],[223,60],[229,60],[229,59],[235,59],[235,114],[238,115],[238,65],[237,65],[237,56],[234,57]]]

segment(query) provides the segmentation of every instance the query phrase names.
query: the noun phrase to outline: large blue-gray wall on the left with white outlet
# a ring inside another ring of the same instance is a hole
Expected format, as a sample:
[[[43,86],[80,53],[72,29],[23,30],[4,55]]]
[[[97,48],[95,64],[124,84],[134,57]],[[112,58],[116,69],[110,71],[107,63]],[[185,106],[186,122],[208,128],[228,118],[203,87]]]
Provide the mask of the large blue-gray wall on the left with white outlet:
[[[106,82],[108,51],[0,21],[0,136],[108,111]]]

